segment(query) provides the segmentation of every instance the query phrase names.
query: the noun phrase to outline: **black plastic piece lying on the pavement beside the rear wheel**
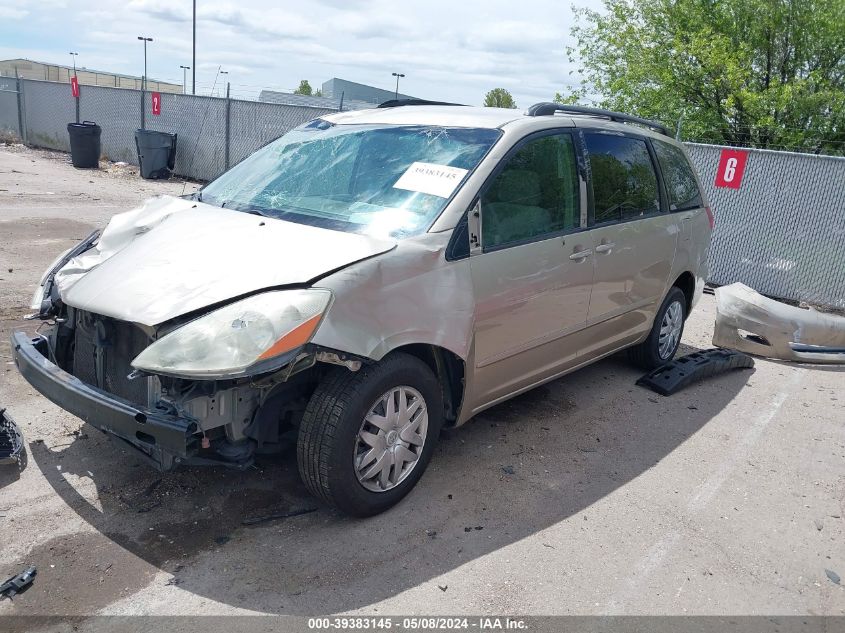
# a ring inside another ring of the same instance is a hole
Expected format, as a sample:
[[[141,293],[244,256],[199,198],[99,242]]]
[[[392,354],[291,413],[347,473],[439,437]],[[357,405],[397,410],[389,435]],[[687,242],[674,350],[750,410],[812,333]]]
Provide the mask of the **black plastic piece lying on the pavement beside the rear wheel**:
[[[708,349],[676,358],[647,373],[637,384],[661,396],[671,396],[703,378],[732,369],[751,367],[754,367],[754,359],[747,354],[727,349]]]

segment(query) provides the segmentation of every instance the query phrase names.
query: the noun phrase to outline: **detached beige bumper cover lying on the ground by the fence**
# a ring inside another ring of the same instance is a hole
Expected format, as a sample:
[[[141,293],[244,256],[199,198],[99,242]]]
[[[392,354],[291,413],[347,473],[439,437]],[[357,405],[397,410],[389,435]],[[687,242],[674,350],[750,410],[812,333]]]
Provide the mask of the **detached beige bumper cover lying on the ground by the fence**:
[[[767,358],[845,363],[845,317],[790,306],[735,283],[716,289],[713,344]]]

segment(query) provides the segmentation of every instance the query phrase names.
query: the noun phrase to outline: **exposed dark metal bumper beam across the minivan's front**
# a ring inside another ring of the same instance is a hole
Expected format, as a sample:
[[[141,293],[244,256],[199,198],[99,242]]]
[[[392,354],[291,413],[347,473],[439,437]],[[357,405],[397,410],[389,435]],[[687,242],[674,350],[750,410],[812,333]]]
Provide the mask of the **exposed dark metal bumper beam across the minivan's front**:
[[[24,332],[13,332],[12,355],[21,375],[42,395],[96,428],[138,449],[160,470],[197,451],[196,423],[134,403],[88,385],[50,362]],[[41,346],[44,345],[40,341]]]

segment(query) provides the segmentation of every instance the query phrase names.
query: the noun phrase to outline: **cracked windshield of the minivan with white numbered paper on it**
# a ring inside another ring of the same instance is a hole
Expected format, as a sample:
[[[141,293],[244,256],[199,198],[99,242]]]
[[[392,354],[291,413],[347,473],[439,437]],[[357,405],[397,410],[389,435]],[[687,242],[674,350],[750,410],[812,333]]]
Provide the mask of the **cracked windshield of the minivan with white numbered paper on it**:
[[[501,132],[314,121],[200,192],[227,209],[350,233],[406,237],[437,218]]]

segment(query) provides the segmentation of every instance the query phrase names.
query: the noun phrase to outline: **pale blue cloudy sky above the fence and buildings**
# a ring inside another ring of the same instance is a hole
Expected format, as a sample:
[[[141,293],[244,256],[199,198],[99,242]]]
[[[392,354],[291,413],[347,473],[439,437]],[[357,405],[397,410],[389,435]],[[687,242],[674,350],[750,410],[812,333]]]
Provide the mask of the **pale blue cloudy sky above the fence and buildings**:
[[[600,0],[197,0],[197,94],[256,99],[340,77],[415,97],[481,105],[492,88],[519,107],[578,85],[572,4]],[[191,65],[190,0],[4,0],[0,59],[25,57],[182,82]],[[218,70],[228,75],[218,74]],[[216,84],[215,84],[216,82]],[[188,89],[191,73],[188,71]]]

